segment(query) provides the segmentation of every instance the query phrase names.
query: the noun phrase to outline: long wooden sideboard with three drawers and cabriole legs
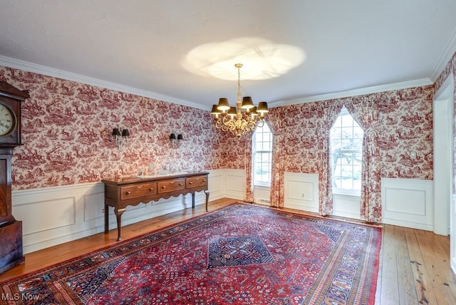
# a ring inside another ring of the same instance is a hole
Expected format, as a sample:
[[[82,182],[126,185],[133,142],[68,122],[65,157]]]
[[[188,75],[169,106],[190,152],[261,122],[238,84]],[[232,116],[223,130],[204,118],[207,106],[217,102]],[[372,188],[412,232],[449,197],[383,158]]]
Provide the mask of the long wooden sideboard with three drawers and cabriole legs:
[[[128,205],[139,205],[152,200],[192,193],[192,208],[195,208],[195,192],[202,192],[209,201],[209,172],[175,173],[170,175],[149,175],[123,177],[118,180],[101,180],[105,184],[105,234],[109,232],[108,207],[114,207],[117,218],[118,241],[122,239],[122,214]]]

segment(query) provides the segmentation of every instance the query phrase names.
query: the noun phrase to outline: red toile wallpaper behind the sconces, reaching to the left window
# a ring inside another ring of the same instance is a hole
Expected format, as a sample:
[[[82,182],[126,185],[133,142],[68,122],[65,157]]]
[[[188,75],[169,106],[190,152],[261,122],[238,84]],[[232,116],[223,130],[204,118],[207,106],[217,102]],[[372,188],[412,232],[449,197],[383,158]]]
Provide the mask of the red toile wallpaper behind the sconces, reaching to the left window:
[[[209,111],[0,67],[0,79],[31,98],[22,103],[22,142],[12,158],[13,190],[97,182],[106,177],[243,167],[236,141]],[[130,138],[118,148],[113,128]],[[171,143],[170,133],[184,140]]]

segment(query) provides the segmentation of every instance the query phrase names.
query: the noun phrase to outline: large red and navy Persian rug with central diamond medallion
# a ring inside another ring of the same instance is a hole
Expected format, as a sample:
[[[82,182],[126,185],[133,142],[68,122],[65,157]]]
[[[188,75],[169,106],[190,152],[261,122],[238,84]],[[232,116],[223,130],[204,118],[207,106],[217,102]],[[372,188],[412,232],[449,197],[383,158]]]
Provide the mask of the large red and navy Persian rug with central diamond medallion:
[[[1,304],[373,304],[381,232],[235,204],[0,284]]]

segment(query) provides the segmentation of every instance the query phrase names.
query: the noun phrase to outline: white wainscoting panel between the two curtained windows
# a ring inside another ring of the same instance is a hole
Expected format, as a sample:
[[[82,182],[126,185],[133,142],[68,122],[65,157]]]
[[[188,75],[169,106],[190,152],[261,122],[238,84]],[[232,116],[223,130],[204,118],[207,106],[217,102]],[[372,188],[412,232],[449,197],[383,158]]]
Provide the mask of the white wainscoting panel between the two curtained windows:
[[[318,212],[318,174],[285,172],[284,207]]]

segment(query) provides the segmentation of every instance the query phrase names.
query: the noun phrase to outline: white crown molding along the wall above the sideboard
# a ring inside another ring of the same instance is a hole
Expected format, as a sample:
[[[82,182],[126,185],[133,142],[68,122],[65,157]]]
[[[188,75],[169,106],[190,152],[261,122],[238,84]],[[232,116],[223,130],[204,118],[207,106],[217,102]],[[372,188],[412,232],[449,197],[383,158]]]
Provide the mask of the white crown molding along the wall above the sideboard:
[[[192,108],[198,108],[207,110],[204,105],[192,103],[188,100],[180,100],[178,98],[172,98],[171,96],[162,95],[159,93],[145,91],[138,88],[120,85],[118,83],[111,83],[110,81],[103,81],[98,78],[91,78],[89,76],[83,76],[81,74],[71,73],[68,71],[58,70],[46,66],[41,66],[36,63],[29,63],[28,61],[21,61],[19,59],[10,58],[6,56],[0,56],[0,66],[6,66],[9,68],[15,68],[23,71],[43,74],[45,76],[52,76],[55,78],[62,78],[67,81],[76,81],[78,83],[85,83],[90,86],[96,86],[100,88],[106,88],[114,91],[120,91],[124,93],[131,93],[135,95],[144,96],[145,98],[153,98],[155,100],[163,100],[165,102],[184,105]]]

